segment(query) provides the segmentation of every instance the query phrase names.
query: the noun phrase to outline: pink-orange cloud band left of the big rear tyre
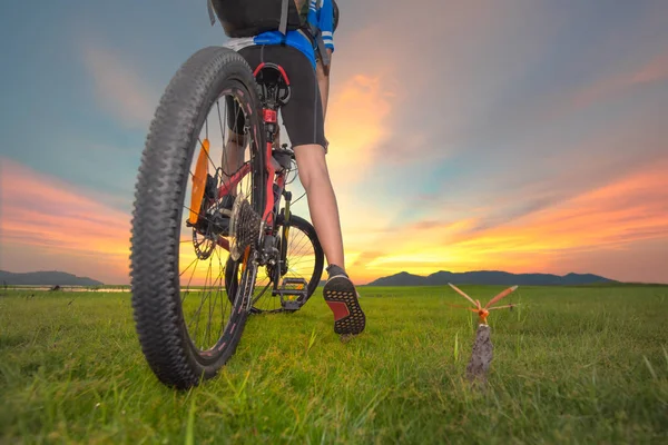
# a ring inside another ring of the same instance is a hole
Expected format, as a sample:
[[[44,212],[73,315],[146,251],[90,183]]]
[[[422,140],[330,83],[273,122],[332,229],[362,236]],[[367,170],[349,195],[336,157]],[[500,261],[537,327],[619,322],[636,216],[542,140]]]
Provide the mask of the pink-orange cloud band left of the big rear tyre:
[[[102,194],[96,198],[9,159],[0,160],[4,268],[58,268],[127,283],[129,215],[102,204]]]

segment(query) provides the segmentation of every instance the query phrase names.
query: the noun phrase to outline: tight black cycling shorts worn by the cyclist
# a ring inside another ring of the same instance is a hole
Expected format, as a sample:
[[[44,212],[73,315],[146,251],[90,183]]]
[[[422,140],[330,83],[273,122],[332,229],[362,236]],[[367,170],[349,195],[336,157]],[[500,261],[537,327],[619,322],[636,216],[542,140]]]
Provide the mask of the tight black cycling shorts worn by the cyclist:
[[[281,116],[293,147],[317,144],[326,150],[323,102],[315,71],[306,56],[296,48],[279,44],[255,44],[242,48],[238,52],[252,70],[262,62],[283,67],[289,79],[291,97],[281,108]],[[232,98],[228,98],[227,125],[234,130],[244,127],[244,117],[235,112],[232,102]],[[239,117],[235,119],[235,116]]]

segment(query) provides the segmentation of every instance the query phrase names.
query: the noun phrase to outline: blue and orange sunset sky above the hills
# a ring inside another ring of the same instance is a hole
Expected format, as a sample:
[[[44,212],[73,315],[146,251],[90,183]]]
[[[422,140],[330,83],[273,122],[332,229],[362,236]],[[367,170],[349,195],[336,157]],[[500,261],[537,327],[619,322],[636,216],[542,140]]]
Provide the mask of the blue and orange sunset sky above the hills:
[[[355,283],[668,283],[668,2],[337,2],[325,131]],[[0,269],[127,284],[148,123],[226,37],[204,0],[42,3],[0,13]]]

